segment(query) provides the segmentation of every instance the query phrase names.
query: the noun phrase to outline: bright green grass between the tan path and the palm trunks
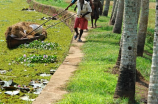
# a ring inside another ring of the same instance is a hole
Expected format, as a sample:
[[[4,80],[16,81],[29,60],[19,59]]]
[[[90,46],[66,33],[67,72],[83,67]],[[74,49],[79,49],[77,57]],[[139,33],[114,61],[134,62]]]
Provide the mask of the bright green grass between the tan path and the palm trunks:
[[[109,14],[111,10],[112,7]],[[146,80],[149,80],[152,62],[154,11],[150,10],[144,57],[137,57],[136,68]],[[113,99],[117,75],[111,74],[111,71],[118,57],[121,34],[112,33],[113,26],[108,25],[109,19],[110,16],[101,16],[97,22],[99,27],[88,31],[89,35],[82,47],[85,56],[66,86],[69,93],[58,104],[127,104],[127,99]],[[138,104],[140,99],[140,95],[136,94]]]

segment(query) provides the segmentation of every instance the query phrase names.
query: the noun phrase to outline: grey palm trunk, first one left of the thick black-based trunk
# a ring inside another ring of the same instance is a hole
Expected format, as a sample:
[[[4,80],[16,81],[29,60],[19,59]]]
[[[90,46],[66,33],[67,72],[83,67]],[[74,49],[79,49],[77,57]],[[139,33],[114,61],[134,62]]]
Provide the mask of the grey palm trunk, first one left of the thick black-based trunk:
[[[116,15],[116,21],[113,27],[113,33],[121,33],[122,20],[123,20],[124,0],[119,0],[118,11]]]

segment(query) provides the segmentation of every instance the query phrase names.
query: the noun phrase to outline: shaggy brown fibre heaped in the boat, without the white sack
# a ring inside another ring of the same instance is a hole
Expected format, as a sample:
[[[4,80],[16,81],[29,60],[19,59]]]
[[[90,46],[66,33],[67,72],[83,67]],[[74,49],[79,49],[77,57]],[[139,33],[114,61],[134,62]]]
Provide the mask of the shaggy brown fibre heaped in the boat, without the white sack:
[[[7,28],[5,32],[5,37],[7,38],[8,35],[14,34],[17,38],[33,38],[35,36],[35,32],[33,29],[29,26],[31,24],[37,24],[37,23],[31,23],[31,22],[19,22],[17,24],[14,24]],[[39,25],[39,24],[37,24]],[[24,30],[26,30],[26,33],[24,33]],[[33,31],[33,32],[32,32]],[[31,34],[29,34],[32,32]],[[45,29],[42,30],[42,34],[47,37],[47,32]]]

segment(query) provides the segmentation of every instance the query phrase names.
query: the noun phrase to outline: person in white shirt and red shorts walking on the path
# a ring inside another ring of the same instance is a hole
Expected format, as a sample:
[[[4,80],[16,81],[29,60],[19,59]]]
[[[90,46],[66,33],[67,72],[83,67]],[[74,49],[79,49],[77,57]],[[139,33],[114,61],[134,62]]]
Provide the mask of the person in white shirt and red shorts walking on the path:
[[[77,7],[77,17],[74,24],[76,35],[74,36],[74,39],[76,40],[79,36],[78,42],[82,42],[81,36],[83,34],[83,30],[87,29],[88,20],[91,18],[90,13],[92,12],[92,9],[89,3],[85,0],[77,0]],[[80,33],[78,32],[78,28],[80,28]]]

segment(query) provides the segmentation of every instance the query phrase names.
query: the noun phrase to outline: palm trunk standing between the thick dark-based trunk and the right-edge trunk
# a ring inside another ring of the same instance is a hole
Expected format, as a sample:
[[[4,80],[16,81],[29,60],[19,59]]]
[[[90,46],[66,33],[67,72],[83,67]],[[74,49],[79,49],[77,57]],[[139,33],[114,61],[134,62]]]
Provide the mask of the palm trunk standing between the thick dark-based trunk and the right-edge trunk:
[[[143,56],[144,44],[148,26],[149,0],[141,0],[141,15],[138,31],[137,56]]]

